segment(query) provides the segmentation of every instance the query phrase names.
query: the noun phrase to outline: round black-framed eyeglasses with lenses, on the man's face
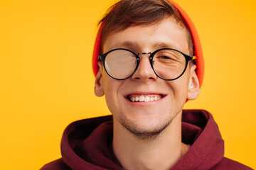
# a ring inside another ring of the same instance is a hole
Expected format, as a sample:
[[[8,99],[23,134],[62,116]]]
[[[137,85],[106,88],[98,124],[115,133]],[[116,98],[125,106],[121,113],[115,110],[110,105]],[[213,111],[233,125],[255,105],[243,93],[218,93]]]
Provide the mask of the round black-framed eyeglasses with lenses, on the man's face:
[[[113,79],[124,80],[132,77],[139,67],[139,55],[150,55],[149,62],[157,77],[164,80],[175,80],[186,71],[189,60],[195,56],[171,48],[161,48],[154,52],[136,53],[125,48],[110,50],[99,55],[99,60],[107,74]]]

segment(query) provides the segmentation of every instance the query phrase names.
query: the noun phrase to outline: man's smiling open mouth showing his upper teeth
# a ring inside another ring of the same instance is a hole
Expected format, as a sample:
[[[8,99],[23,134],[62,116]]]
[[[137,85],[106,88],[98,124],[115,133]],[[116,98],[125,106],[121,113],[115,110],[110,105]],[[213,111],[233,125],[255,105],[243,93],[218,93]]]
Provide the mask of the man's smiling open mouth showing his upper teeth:
[[[162,98],[160,94],[149,94],[149,95],[141,95],[141,94],[131,94],[128,96],[129,101],[132,102],[150,102],[150,101],[158,101]]]

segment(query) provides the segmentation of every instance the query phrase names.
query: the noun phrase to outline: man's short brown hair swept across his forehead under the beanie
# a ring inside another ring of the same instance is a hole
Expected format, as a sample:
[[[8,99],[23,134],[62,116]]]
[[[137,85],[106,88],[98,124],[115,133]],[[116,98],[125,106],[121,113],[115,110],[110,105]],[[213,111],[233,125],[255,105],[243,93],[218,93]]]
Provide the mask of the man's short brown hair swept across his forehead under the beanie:
[[[129,26],[151,26],[164,18],[174,16],[178,24],[188,31],[188,50],[193,55],[193,42],[186,22],[178,9],[168,0],[121,0],[111,6],[98,25],[102,28],[102,45],[107,35],[117,33]]]

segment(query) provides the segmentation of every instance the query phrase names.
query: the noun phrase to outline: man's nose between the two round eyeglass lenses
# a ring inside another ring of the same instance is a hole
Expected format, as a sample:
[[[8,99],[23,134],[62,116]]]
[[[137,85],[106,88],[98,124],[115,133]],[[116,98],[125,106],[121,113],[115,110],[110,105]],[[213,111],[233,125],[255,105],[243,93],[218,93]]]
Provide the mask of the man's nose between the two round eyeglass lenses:
[[[139,57],[139,66],[132,75],[132,79],[138,79],[142,81],[147,80],[155,80],[157,79],[156,74],[154,73],[153,68],[151,67],[150,61],[149,61],[149,55],[151,55],[151,52],[142,52],[138,53]]]

